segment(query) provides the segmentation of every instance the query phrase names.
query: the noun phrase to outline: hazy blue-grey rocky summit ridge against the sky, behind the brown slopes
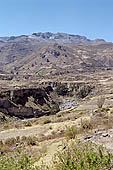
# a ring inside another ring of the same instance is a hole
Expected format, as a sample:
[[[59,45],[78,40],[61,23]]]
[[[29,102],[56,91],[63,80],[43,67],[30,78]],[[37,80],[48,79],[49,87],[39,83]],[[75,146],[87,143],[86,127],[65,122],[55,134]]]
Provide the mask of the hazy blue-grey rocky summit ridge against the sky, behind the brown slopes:
[[[85,36],[67,34],[67,33],[51,33],[51,32],[38,32],[32,35],[20,35],[10,37],[0,37],[0,43],[15,41],[37,41],[37,42],[55,42],[60,44],[89,44],[89,43],[103,43],[103,39],[90,40]]]

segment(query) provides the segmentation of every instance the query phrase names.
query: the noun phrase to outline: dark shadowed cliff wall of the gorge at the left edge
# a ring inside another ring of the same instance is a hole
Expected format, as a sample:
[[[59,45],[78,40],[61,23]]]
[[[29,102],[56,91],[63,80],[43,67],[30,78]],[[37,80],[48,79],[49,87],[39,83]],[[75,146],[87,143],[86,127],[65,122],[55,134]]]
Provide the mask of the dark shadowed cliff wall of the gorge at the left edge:
[[[0,94],[0,111],[21,119],[49,115],[56,105],[50,86],[37,89],[9,90]],[[31,100],[32,99],[32,100]]]

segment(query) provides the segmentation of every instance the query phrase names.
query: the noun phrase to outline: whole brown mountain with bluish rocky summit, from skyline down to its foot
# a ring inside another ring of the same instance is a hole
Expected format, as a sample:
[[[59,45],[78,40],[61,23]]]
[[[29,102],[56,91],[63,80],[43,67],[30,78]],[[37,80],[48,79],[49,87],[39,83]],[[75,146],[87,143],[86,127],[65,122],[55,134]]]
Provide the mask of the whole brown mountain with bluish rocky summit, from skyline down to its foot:
[[[67,74],[112,69],[113,44],[66,33],[0,37],[0,70],[21,74]]]

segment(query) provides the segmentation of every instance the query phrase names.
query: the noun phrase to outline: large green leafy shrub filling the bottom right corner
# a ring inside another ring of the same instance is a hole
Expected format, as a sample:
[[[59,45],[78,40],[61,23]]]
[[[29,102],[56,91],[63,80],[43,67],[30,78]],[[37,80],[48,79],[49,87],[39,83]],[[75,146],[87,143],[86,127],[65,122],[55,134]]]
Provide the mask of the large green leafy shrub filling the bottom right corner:
[[[110,170],[113,155],[91,143],[72,143],[58,152],[53,161],[54,170]]]

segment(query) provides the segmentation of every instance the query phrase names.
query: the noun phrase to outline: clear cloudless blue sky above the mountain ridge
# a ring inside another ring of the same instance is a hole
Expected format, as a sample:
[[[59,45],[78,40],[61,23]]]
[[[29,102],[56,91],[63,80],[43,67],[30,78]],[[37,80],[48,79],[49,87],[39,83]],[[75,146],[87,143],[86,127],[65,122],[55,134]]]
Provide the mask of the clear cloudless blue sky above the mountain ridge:
[[[113,41],[113,0],[0,0],[0,36],[33,32]]]

